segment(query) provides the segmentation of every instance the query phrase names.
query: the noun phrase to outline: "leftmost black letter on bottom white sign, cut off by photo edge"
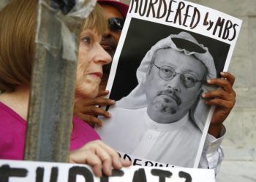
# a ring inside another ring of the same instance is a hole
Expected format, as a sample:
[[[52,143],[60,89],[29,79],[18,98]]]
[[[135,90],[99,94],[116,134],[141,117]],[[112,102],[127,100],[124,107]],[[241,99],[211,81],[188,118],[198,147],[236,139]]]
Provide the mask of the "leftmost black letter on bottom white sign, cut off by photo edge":
[[[24,168],[11,168],[9,165],[2,165],[0,167],[0,181],[8,182],[10,177],[26,177],[28,170]]]

